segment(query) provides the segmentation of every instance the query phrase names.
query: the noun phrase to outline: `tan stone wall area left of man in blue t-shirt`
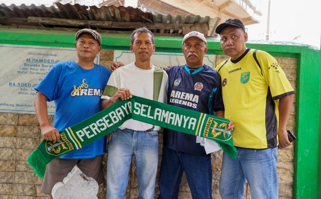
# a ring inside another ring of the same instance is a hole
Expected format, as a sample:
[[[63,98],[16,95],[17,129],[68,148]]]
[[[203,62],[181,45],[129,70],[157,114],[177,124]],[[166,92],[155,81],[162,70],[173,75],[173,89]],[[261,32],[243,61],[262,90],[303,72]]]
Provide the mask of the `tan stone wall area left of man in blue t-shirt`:
[[[50,116],[52,123],[53,116]],[[40,199],[42,179],[26,159],[37,148],[40,127],[36,115],[0,113],[0,198]]]

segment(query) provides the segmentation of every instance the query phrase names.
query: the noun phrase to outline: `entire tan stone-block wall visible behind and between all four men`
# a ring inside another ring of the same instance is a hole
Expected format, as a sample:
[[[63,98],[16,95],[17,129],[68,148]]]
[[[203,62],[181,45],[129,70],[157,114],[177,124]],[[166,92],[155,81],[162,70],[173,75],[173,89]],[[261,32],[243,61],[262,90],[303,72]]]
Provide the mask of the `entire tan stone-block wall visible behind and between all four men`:
[[[113,50],[102,50],[100,53],[100,63],[110,68],[113,63]],[[227,59],[227,56],[218,55],[216,64]],[[285,71],[286,76],[296,91],[296,68],[297,60],[295,58],[276,57],[279,65]],[[293,108],[291,110],[288,129],[295,130],[295,97]],[[53,116],[49,117],[51,123]],[[37,148],[43,138],[40,134],[40,127],[36,115],[18,114],[18,113],[0,113],[0,199],[45,199],[40,186],[42,179],[33,173],[26,159],[31,152]],[[110,135],[107,136],[107,141]],[[159,166],[163,147],[163,134],[159,133]],[[108,144],[108,142],[107,142]],[[104,177],[106,178],[106,163],[108,154],[104,154]],[[278,150],[278,175],[279,175],[279,199],[292,198],[293,187],[293,146],[285,150]],[[126,189],[125,198],[134,199],[138,196],[137,177],[135,171],[135,158],[129,171],[129,181]],[[219,179],[222,165],[222,151],[212,153],[213,169],[213,199],[221,199],[219,194]],[[159,194],[158,187],[159,168],[156,179],[155,198]],[[179,188],[180,199],[191,199],[190,189],[188,187],[186,176],[183,175]],[[100,185],[98,198],[105,199],[106,182]],[[249,199],[250,188],[245,184],[244,199]]]

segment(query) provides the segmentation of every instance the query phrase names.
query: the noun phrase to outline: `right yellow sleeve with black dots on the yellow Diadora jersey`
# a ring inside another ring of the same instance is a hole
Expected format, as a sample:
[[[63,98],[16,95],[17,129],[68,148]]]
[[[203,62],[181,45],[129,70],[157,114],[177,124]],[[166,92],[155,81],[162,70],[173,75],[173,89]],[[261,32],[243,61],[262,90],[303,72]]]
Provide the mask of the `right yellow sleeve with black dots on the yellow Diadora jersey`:
[[[256,59],[260,64],[262,75],[270,87],[273,100],[294,94],[289,80],[274,57],[265,51],[258,50]]]

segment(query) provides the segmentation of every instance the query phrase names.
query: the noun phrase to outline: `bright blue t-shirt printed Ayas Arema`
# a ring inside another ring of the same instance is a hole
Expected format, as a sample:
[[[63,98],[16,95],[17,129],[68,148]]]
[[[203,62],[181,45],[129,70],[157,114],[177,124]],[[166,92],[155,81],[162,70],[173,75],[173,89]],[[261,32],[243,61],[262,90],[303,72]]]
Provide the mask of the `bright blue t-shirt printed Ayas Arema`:
[[[110,70],[95,64],[84,69],[75,61],[56,63],[35,87],[48,101],[55,101],[54,127],[61,131],[100,112],[100,96],[110,77]],[[59,158],[93,158],[103,154],[105,137]]]

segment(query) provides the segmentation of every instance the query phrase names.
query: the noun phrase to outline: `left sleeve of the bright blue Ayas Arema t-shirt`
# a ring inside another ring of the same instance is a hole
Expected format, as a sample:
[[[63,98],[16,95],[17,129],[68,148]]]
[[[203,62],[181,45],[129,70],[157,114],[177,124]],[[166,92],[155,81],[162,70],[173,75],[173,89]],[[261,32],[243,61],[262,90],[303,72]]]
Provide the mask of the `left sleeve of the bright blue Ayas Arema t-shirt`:
[[[51,102],[57,98],[58,93],[58,83],[61,74],[62,63],[56,63],[47,75],[40,81],[35,87],[36,91],[40,91],[48,98],[48,102]]]

